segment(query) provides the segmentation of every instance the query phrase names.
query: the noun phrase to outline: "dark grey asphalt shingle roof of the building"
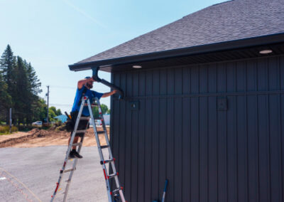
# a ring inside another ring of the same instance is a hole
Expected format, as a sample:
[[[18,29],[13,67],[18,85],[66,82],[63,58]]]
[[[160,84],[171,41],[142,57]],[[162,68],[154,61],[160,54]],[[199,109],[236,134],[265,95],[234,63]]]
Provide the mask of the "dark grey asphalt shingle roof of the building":
[[[284,33],[283,11],[283,0],[226,1],[77,64]]]

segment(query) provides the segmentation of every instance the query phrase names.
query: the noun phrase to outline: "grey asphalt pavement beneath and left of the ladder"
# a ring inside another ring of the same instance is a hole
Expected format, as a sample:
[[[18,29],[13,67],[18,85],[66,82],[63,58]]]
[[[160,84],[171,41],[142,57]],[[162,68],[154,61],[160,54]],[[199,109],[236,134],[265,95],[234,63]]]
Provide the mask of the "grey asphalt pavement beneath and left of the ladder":
[[[50,201],[67,147],[0,148],[0,201]],[[107,201],[97,147],[83,147],[67,201]],[[68,161],[67,167],[73,161]],[[65,181],[55,201],[62,201]]]

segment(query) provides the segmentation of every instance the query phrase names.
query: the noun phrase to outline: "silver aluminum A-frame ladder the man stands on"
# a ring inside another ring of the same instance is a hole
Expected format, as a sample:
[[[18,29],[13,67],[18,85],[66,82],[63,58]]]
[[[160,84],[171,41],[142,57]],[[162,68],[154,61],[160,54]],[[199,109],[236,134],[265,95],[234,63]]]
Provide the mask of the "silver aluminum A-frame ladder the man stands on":
[[[106,181],[107,196],[108,196],[109,202],[112,202],[112,196],[114,197],[114,201],[119,201],[119,199],[121,199],[122,202],[125,202],[124,193],[122,191],[123,188],[119,184],[119,177],[118,177],[119,173],[116,172],[116,168],[115,168],[115,165],[114,165],[115,159],[114,159],[114,157],[112,156],[112,153],[111,153],[111,147],[110,147],[110,144],[109,144],[109,137],[107,136],[107,127],[104,123],[104,117],[102,115],[102,108],[101,108],[101,105],[99,103],[99,99],[97,97],[95,97],[94,100],[95,100],[94,104],[91,105],[90,102],[89,102],[89,98],[87,96],[82,97],[82,102],[81,102],[80,110],[79,110],[79,113],[78,113],[78,116],[77,116],[77,119],[76,119],[75,128],[72,132],[70,144],[69,144],[69,147],[67,149],[67,153],[66,153],[66,157],[65,157],[62,169],[60,170],[60,176],[59,176],[58,182],[56,183],[55,191],[53,193],[53,196],[51,196],[51,202],[55,199],[56,193],[58,192],[58,189],[60,187],[60,182],[61,182],[63,174],[65,174],[66,172],[70,172],[69,178],[67,180],[67,185],[66,185],[66,188],[65,188],[63,201],[66,201],[66,199],[67,199],[67,193],[68,193],[68,190],[69,190],[70,182],[71,182],[71,179],[72,179],[73,172],[76,170],[76,164],[77,164],[78,159],[75,159],[71,169],[65,169],[65,167],[66,167],[66,164],[67,164],[67,161],[68,161],[68,156],[70,154],[72,147],[78,146],[77,152],[80,153],[80,150],[81,150],[82,144],[83,144],[83,140],[84,140],[84,136],[81,138],[81,141],[79,143],[73,144],[75,134],[77,132],[82,133],[82,132],[86,131],[86,130],[77,130],[77,127],[78,127],[80,120],[82,120],[82,119],[86,120],[86,119],[89,119],[89,118],[92,119],[92,124],[93,124],[93,128],[94,128],[94,136],[96,137],[97,147],[98,147],[98,150],[99,150],[99,157],[101,159],[100,164],[102,165],[102,169],[104,171],[104,179]],[[87,102],[87,104],[86,104],[86,102]],[[96,106],[96,105],[99,107],[99,117],[94,118],[94,116],[92,114],[92,106]],[[88,107],[90,117],[81,117],[82,116],[82,110],[83,110],[84,106]],[[102,127],[103,127],[104,131],[99,131],[99,132],[97,131],[97,127],[96,127],[96,124],[94,122],[95,119],[99,119],[99,120],[102,121]],[[105,137],[106,142],[107,142],[106,145],[100,144],[99,134],[104,134],[104,137]],[[104,156],[102,154],[102,149],[109,149],[109,159],[104,159]],[[107,164],[111,164],[111,169],[113,171],[112,174],[108,173]],[[113,191],[110,190],[110,185],[109,185],[110,179],[115,180],[116,188]]]

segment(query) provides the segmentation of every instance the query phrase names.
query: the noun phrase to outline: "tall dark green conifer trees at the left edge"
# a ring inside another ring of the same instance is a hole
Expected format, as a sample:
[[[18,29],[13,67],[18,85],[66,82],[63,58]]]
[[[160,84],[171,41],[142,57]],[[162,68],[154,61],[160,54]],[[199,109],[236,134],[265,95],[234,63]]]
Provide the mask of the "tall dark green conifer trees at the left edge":
[[[7,46],[0,59],[0,122],[9,124],[12,108],[13,124],[31,124],[46,117],[47,105],[39,97],[41,83],[31,63],[14,56]],[[51,111],[56,112],[56,109]],[[50,112],[50,118],[53,112]],[[56,112],[55,115],[61,114]]]

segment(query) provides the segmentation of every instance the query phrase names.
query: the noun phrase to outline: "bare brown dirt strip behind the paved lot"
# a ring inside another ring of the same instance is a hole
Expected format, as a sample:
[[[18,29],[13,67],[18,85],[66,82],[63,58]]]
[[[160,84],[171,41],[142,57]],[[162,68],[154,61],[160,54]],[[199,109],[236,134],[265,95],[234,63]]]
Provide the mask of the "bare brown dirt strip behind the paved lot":
[[[102,130],[102,128],[98,128]],[[109,129],[107,129],[109,134]],[[8,138],[7,138],[8,137]],[[11,138],[9,138],[11,137]],[[32,129],[27,132],[26,135],[21,135],[18,137],[16,134],[8,135],[1,141],[0,148],[2,147],[45,147],[52,145],[67,145],[68,138],[70,137],[70,132],[58,131],[56,129]],[[105,144],[105,139],[103,135],[99,135],[99,141],[101,144]],[[94,130],[92,128],[87,129],[84,136],[85,147],[97,146],[97,142],[94,138]]]

